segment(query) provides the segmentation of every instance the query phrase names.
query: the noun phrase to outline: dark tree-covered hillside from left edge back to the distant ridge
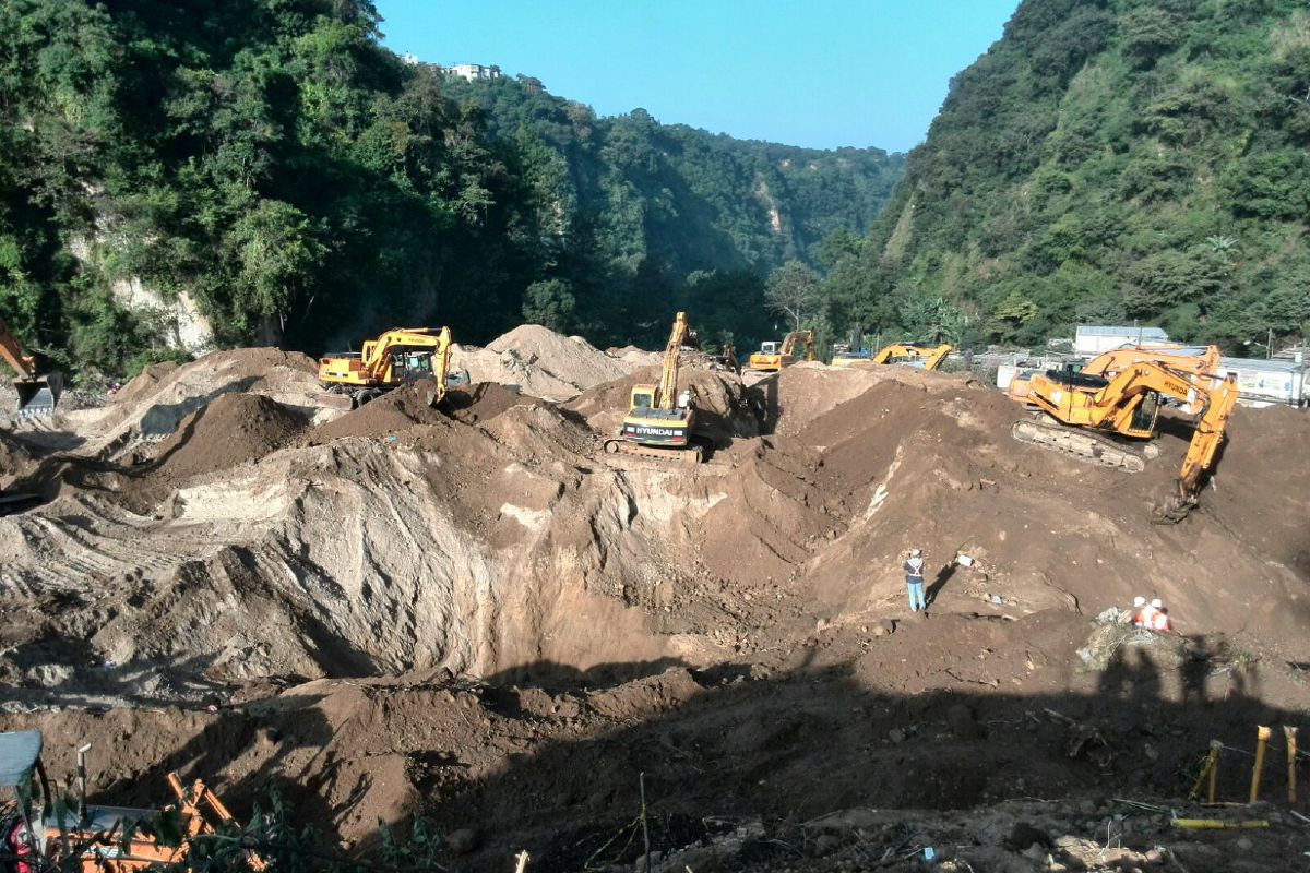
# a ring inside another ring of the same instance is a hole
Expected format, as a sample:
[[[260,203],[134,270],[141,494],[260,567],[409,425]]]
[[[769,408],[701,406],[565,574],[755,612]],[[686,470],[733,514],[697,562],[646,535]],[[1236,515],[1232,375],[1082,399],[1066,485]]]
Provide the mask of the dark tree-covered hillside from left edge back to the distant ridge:
[[[865,229],[900,171],[465,84],[377,27],[368,0],[0,4],[10,327],[66,368],[130,370],[169,353],[124,305],[138,283],[187,294],[223,344],[317,352],[402,322],[481,342],[525,317],[658,343],[679,305],[755,339],[762,276]]]

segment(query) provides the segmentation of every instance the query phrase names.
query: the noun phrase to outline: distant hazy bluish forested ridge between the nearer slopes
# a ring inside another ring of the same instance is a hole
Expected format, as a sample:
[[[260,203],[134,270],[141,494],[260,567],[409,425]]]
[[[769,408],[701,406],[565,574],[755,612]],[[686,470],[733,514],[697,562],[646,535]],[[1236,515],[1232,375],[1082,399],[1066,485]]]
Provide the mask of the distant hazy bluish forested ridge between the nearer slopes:
[[[878,148],[736,140],[660,124],[642,109],[597,118],[524,76],[449,79],[445,89],[549,168],[534,177],[545,195],[561,215],[593,216],[607,257],[633,267],[656,258],[680,275],[816,262],[828,234],[869,228],[904,162]]]

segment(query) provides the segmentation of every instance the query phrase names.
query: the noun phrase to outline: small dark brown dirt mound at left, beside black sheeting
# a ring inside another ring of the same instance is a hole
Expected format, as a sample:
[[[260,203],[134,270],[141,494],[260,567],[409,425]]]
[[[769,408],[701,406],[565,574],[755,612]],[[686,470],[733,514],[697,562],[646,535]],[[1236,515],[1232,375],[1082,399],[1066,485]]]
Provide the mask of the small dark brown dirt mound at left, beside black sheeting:
[[[155,474],[179,480],[257,461],[290,445],[305,416],[262,394],[224,394],[155,449]]]

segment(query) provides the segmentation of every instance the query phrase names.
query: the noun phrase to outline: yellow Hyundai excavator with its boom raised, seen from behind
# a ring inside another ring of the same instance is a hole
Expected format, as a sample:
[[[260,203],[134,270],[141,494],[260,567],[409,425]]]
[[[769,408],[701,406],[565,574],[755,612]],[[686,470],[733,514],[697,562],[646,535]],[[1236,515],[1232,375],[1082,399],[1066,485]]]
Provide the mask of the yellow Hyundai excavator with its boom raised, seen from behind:
[[[664,347],[659,385],[634,385],[627,415],[618,435],[605,440],[605,452],[626,452],[651,458],[700,463],[703,446],[692,436],[696,404],[689,390],[677,395],[677,368],[683,342],[694,336],[686,314],[679,313]],[[675,397],[677,395],[677,397]]]

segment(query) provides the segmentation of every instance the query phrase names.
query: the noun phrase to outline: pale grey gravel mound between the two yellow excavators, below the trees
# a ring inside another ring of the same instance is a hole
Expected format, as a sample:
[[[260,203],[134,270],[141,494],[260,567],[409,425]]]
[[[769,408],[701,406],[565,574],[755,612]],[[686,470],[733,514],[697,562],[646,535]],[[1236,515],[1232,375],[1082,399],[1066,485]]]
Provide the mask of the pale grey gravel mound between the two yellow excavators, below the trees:
[[[486,348],[456,347],[451,364],[474,382],[515,385],[548,401],[569,401],[601,382],[620,378],[645,361],[612,357],[580,336],[523,325]]]

